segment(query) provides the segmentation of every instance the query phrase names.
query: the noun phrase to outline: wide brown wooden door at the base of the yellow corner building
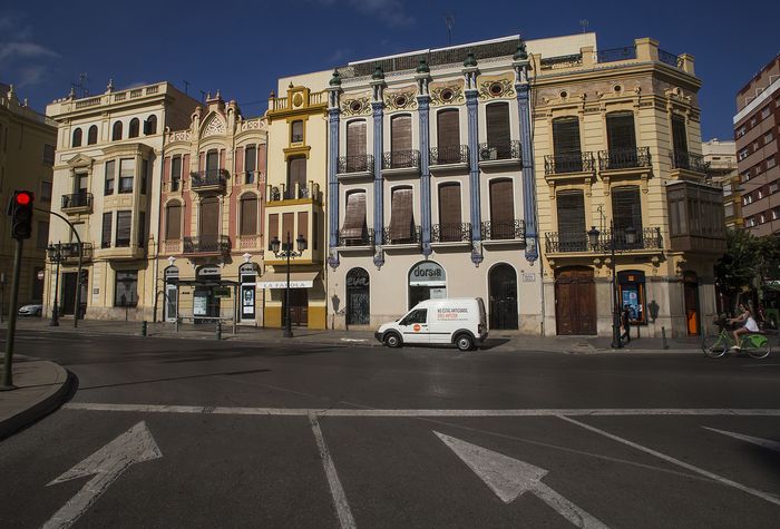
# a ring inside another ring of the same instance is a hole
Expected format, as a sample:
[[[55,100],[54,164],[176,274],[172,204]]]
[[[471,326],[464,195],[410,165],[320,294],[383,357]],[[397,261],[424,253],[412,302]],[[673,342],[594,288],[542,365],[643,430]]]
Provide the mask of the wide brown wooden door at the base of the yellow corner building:
[[[596,283],[593,268],[555,272],[555,322],[559,335],[596,334]]]

